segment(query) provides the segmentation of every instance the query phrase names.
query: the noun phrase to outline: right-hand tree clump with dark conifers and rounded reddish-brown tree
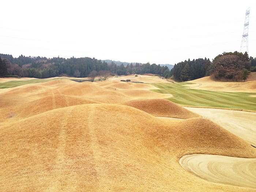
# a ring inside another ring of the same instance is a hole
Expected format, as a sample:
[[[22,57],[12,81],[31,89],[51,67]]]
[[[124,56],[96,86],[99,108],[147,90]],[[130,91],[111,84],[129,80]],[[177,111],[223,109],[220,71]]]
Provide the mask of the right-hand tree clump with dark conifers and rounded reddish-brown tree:
[[[188,80],[211,76],[216,80],[241,81],[246,80],[251,71],[256,71],[256,58],[240,52],[219,54],[212,60],[190,59],[174,65],[171,70],[174,80]]]

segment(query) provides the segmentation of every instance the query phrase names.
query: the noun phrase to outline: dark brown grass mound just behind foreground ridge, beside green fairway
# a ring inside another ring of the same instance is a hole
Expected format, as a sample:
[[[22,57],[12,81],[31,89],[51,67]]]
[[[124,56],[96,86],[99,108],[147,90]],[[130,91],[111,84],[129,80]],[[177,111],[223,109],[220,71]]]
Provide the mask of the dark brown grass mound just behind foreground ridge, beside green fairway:
[[[174,102],[166,99],[136,99],[123,103],[157,117],[174,117],[174,118],[193,118],[199,117],[198,114],[182,108]]]

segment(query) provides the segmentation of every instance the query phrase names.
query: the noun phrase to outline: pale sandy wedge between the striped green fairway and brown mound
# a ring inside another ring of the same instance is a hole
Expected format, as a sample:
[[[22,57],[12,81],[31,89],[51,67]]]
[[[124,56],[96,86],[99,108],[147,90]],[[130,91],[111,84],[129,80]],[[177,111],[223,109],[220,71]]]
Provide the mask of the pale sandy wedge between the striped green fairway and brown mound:
[[[202,115],[256,146],[256,113],[210,108],[185,107],[185,109]]]

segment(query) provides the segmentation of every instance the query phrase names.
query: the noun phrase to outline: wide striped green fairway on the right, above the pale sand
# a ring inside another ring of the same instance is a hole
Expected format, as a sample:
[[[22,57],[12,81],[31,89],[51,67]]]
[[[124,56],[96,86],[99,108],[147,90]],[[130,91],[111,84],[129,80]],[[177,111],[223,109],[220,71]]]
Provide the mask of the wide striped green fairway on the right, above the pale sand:
[[[152,83],[160,90],[157,93],[169,93],[173,97],[168,100],[183,106],[199,106],[212,108],[245,109],[256,111],[256,93],[220,92],[189,89],[182,86],[188,83]]]

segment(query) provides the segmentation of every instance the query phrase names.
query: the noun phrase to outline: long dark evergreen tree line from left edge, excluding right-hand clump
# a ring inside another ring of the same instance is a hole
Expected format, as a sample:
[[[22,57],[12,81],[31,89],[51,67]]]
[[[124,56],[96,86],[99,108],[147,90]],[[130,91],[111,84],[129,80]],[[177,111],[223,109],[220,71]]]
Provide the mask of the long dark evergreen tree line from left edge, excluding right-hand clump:
[[[18,58],[9,54],[0,54],[1,61],[5,63],[7,70],[3,71],[0,76],[18,76],[34,78],[50,78],[55,76],[70,77],[88,77],[92,71],[110,71],[112,75],[129,75],[129,74],[156,74],[170,77],[168,67],[156,64],[124,64],[116,65],[114,62],[106,63],[105,61],[95,58],[83,57],[69,59],[61,57],[26,57],[20,55]],[[2,68],[0,68],[2,71]]]

